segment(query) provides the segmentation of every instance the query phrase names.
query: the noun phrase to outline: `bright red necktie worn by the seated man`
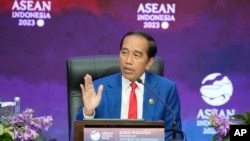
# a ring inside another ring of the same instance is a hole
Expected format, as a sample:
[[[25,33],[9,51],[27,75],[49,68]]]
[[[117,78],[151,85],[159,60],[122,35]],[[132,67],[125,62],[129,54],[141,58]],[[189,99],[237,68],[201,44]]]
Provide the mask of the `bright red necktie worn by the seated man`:
[[[131,86],[131,92],[130,92],[130,99],[129,99],[128,118],[136,119],[137,118],[137,98],[135,94],[135,89],[137,85],[136,83],[132,82],[130,86]]]

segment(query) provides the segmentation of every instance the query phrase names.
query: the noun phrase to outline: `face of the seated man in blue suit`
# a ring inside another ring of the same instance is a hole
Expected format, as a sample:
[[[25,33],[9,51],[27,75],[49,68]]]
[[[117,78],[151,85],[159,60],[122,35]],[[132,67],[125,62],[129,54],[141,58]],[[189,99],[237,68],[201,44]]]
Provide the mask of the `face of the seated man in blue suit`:
[[[136,81],[148,70],[154,58],[148,58],[148,41],[139,35],[129,35],[124,38],[120,50],[120,67],[123,76],[130,81]]]

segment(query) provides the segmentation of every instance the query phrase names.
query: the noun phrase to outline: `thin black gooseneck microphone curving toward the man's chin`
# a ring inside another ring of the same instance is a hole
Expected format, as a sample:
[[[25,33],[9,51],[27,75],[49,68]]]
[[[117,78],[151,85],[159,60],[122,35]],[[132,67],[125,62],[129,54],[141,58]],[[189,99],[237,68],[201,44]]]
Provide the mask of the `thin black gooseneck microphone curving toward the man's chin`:
[[[173,117],[173,141],[176,140],[176,118],[175,118],[175,115],[174,115],[174,111],[152,90],[150,89],[146,84],[144,84],[141,80],[141,78],[138,78],[137,79],[137,82],[139,82],[140,84],[144,85],[149,91],[151,94],[153,94],[172,114],[172,117]]]

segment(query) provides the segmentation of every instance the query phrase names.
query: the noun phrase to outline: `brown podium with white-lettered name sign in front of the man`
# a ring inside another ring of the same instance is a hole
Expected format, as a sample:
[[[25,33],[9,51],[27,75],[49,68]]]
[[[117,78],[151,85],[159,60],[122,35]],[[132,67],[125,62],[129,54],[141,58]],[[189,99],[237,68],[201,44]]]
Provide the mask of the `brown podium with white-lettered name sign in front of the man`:
[[[164,141],[163,121],[91,119],[74,121],[74,141]]]

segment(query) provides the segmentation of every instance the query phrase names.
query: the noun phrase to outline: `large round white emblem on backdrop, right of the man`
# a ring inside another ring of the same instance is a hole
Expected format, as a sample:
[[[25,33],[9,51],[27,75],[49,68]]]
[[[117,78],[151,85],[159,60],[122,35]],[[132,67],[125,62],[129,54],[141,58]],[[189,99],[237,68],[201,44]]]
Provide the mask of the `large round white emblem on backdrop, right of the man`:
[[[221,73],[207,75],[201,84],[201,97],[207,104],[212,106],[220,106],[227,103],[233,94],[232,82]]]

